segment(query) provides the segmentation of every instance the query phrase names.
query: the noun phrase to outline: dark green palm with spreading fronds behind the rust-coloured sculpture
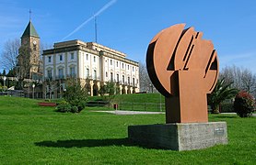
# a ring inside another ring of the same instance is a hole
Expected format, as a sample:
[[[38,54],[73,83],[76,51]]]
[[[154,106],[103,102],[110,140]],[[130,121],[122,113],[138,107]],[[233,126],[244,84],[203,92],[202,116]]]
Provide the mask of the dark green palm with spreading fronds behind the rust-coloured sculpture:
[[[214,91],[208,97],[208,104],[211,105],[214,114],[219,113],[219,106],[224,100],[234,98],[239,93],[238,89],[231,88],[231,84],[226,83],[225,79],[216,82]]]

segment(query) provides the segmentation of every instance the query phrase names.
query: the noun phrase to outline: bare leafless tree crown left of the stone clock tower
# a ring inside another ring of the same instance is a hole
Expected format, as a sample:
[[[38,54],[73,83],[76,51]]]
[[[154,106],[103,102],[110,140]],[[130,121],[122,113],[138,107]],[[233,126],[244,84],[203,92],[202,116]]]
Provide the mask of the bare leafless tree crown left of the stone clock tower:
[[[20,47],[20,41],[18,38],[13,40],[7,40],[3,52],[1,53],[2,60],[1,65],[8,69],[13,70],[17,65],[18,49]]]

